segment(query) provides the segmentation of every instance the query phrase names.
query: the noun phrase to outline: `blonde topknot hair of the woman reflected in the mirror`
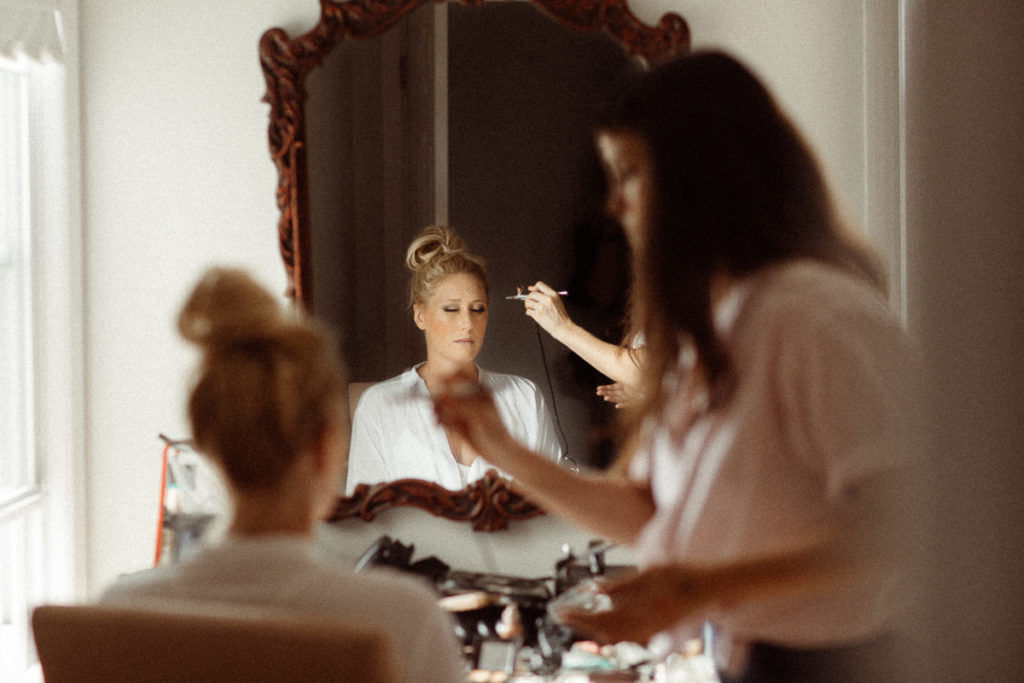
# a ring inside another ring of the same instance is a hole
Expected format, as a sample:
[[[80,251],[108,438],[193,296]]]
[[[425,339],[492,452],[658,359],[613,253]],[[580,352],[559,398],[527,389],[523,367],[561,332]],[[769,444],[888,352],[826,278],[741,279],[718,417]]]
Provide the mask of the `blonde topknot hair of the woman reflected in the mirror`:
[[[413,240],[406,251],[406,267],[413,273],[409,285],[411,306],[429,300],[445,275],[459,273],[479,280],[484,295],[490,297],[483,259],[470,253],[463,239],[443,225],[425,227]]]

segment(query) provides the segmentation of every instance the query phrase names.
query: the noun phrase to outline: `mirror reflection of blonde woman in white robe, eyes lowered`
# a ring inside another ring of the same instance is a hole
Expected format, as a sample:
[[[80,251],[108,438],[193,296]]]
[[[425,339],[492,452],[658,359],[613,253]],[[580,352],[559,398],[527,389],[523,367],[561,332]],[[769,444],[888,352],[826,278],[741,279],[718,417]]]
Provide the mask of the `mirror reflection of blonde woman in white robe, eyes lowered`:
[[[456,373],[487,387],[515,438],[558,461],[561,446],[537,386],[476,366],[489,306],[483,260],[452,229],[431,225],[409,246],[406,265],[413,322],[423,331],[427,359],[362,393],[352,418],[346,493],[359,483],[406,477],[457,490],[496,467],[434,417],[430,397],[441,378]]]

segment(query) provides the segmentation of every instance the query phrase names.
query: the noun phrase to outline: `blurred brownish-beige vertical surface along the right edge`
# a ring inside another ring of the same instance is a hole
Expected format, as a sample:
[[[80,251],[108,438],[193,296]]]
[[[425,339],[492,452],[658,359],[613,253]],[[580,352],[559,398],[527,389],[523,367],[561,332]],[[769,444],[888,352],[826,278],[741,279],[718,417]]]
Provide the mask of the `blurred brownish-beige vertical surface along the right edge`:
[[[907,264],[927,353],[918,680],[1024,646],[1024,4],[907,3]]]

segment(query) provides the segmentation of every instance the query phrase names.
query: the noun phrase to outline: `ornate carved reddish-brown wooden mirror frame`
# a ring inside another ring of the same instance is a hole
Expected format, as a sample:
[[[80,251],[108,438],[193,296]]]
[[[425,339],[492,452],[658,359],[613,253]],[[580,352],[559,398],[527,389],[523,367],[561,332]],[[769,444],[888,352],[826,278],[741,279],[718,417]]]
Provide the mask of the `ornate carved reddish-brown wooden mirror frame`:
[[[312,310],[309,187],[306,176],[304,103],[306,75],[344,39],[373,38],[420,5],[445,0],[321,0],[321,17],[306,34],[290,39],[280,28],[260,38],[259,57],[266,80],[263,101],[270,105],[270,157],[278,169],[278,238],[288,279],[287,296]],[[563,26],[582,32],[605,31],[625,50],[648,63],[689,49],[690,34],[678,14],[662,16],[657,26],[641,23],[627,0],[529,0]],[[461,0],[476,6],[483,0]],[[460,492],[415,479],[376,485],[360,484],[339,499],[331,520],[359,517],[367,521],[394,506],[414,506],[435,515],[472,523],[474,529],[506,528],[512,519],[541,511],[494,472]]]

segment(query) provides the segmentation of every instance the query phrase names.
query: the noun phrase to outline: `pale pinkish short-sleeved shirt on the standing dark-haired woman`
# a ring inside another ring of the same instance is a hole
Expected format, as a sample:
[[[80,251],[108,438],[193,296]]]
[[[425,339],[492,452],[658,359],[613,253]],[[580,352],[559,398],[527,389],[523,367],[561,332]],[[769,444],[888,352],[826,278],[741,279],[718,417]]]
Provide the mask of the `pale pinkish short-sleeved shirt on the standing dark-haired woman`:
[[[630,475],[649,482],[655,502],[637,544],[647,565],[793,548],[843,520],[860,482],[906,465],[912,353],[873,290],[797,262],[741,282],[715,312],[735,372],[732,396],[720,409],[700,412],[697,400],[688,411],[681,381],[631,462]],[[692,354],[683,355],[685,366]],[[813,598],[752,600],[716,621],[742,640],[849,643],[886,628],[893,588],[865,582]],[[672,640],[690,635],[683,625]]]

